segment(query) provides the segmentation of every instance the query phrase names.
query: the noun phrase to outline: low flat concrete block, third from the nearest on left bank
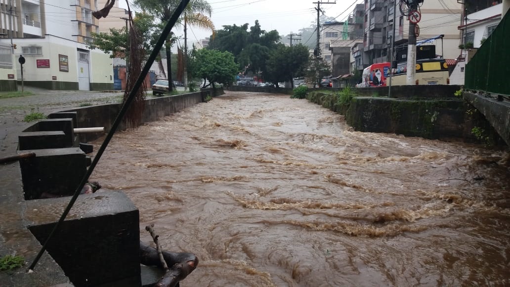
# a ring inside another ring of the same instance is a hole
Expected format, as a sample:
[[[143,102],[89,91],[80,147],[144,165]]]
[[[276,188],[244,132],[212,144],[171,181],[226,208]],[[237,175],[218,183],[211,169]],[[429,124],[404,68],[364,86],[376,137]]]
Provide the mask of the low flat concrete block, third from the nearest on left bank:
[[[66,147],[66,136],[63,131],[24,132],[18,136],[18,149],[45,149]]]

